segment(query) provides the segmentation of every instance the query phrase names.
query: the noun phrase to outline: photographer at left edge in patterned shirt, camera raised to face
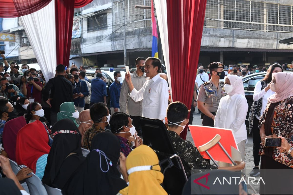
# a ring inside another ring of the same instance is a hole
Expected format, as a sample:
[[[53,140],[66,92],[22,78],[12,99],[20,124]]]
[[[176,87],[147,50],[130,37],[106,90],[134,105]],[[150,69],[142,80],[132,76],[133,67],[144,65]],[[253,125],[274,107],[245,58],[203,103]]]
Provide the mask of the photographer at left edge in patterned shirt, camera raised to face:
[[[0,79],[1,83],[1,90],[0,90],[0,96],[3,96],[7,99],[9,99],[12,96],[20,96],[23,97],[23,94],[20,92],[18,87],[14,84],[10,84],[6,78]]]

